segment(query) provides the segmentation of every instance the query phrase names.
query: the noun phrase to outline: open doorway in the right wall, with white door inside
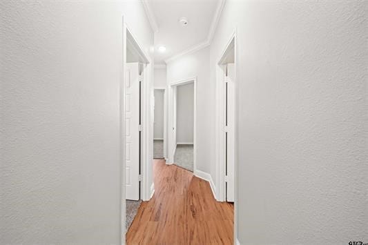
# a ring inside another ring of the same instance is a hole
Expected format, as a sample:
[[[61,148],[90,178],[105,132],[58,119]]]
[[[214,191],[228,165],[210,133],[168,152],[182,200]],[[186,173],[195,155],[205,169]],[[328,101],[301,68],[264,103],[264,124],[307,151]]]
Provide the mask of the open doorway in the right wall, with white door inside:
[[[235,202],[236,79],[235,34],[227,43],[217,63],[217,169],[219,169],[220,201]]]

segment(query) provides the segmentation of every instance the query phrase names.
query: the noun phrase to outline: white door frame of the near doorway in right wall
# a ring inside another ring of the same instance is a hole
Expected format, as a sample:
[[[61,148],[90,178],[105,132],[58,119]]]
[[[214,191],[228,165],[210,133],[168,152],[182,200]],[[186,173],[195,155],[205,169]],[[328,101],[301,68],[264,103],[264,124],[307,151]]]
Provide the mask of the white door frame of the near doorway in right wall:
[[[222,63],[226,59],[227,55],[229,55],[229,48],[233,45],[234,48],[234,83],[235,83],[235,127],[234,127],[234,135],[235,135],[235,146],[234,146],[234,189],[235,189],[235,195],[234,195],[234,242],[238,240],[238,147],[239,147],[239,137],[238,137],[238,101],[239,101],[239,95],[238,95],[238,47],[237,47],[237,30],[233,30],[231,32],[231,35],[226,42],[224,49],[220,53],[220,56],[217,59],[216,63],[216,122],[215,122],[215,128],[216,128],[216,173],[217,173],[217,193],[216,193],[216,199],[218,202],[226,202],[226,182],[225,182],[225,164],[226,164],[226,156],[225,156],[225,144],[226,139],[224,137],[224,128],[225,128],[225,104],[226,104],[226,97],[224,96],[224,90],[225,90],[225,83],[224,83],[224,66]]]

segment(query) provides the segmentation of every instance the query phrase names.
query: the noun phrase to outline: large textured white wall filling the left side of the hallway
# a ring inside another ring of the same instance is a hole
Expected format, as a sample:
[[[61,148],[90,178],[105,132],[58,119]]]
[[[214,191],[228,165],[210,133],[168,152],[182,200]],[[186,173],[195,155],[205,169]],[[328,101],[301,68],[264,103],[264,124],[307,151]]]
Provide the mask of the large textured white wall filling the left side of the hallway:
[[[120,244],[122,14],[140,1],[1,1],[1,244]]]

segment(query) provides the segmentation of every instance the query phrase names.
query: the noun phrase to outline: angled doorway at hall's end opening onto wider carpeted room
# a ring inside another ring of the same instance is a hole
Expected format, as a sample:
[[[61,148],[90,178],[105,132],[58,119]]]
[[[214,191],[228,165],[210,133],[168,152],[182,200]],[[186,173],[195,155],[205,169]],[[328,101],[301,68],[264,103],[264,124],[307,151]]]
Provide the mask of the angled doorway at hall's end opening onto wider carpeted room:
[[[169,86],[168,164],[195,173],[196,169],[196,78]]]

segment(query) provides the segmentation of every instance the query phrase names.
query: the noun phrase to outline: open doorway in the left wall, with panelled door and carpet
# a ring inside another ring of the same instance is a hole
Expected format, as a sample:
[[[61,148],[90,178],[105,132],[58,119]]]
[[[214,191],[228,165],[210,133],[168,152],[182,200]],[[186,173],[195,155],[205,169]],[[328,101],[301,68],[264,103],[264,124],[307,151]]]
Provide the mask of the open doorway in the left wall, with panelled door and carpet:
[[[150,61],[124,23],[122,83],[122,237],[148,191],[148,108]],[[149,141],[151,142],[151,141]],[[151,167],[152,168],[152,167]],[[151,171],[152,172],[152,171]]]

